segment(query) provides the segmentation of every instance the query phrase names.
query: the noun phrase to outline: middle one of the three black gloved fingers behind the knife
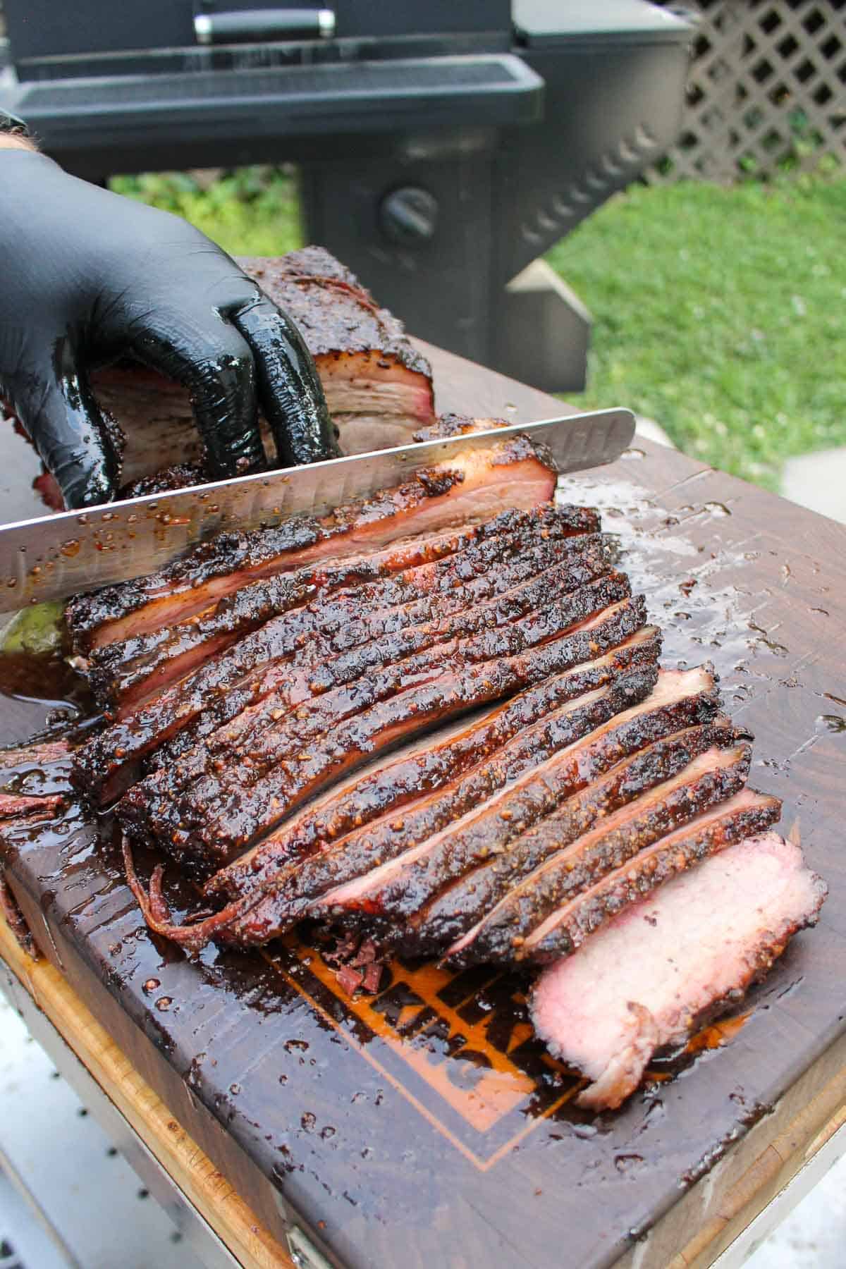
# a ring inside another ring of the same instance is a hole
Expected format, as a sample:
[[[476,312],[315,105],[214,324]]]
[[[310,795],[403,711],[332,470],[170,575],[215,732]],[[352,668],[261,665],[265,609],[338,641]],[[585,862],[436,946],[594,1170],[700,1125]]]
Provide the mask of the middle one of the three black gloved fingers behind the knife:
[[[252,353],[233,326],[217,312],[194,321],[179,313],[166,325],[160,317],[136,336],[132,352],[190,392],[213,476],[245,476],[266,466]]]

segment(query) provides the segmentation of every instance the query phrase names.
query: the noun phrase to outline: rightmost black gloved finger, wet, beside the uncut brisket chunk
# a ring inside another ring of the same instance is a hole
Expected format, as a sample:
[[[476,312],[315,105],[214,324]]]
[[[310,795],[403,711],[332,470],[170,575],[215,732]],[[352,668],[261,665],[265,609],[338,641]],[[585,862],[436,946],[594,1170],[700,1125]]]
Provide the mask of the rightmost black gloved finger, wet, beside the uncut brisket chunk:
[[[339,453],[323,387],[293,321],[266,296],[231,315],[255,355],[259,400],[282,467]]]

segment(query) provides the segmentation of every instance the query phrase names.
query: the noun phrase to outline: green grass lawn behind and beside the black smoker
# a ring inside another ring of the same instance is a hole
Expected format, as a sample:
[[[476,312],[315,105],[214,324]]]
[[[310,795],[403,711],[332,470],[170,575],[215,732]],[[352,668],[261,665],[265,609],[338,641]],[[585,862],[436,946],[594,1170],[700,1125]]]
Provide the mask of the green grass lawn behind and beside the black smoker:
[[[227,251],[299,245],[289,174],[118,178]],[[632,187],[548,259],[595,317],[585,406],[628,405],[690,454],[778,487],[846,444],[846,180]]]

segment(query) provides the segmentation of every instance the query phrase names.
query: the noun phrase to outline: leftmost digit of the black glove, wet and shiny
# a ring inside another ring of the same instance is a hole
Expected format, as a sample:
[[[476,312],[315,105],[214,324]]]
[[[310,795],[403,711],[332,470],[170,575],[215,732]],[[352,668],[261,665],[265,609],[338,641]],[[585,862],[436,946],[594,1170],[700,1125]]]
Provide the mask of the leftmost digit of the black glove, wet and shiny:
[[[88,378],[70,345],[55,350],[56,377],[14,391],[14,407],[65,506],[76,509],[114,497],[119,459]]]

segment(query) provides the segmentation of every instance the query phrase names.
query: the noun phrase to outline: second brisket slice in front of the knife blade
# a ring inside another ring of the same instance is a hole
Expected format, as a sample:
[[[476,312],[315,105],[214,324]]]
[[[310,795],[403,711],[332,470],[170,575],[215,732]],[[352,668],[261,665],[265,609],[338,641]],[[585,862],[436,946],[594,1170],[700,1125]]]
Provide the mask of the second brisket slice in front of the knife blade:
[[[392,543],[381,551],[306,565],[250,582],[174,627],[164,626],[94,648],[88,662],[89,681],[101,708],[124,712],[143,697],[190,673],[194,665],[293,608],[330,594],[348,593],[353,588],[358,589],[363,603],[378,602],[382,607],[401,604],[415,595],[421,577],[436,579],[443,572],[433,569],[435,563],[464,570],[479,555],[478,551],[471,552],[471,547],[487,544],[488,539],[505,534],[514,539],[523,532],[526,536],[524,547],[528,547],[533,533],[575,536],[573,519],[567,509],[553,506],[504,511],[481,525],[441,530]],[[580,520],[577,518],[576,523]],[[482,572],[482,566],[476,571]],[[474,576],[474,572],[467,576]]]

